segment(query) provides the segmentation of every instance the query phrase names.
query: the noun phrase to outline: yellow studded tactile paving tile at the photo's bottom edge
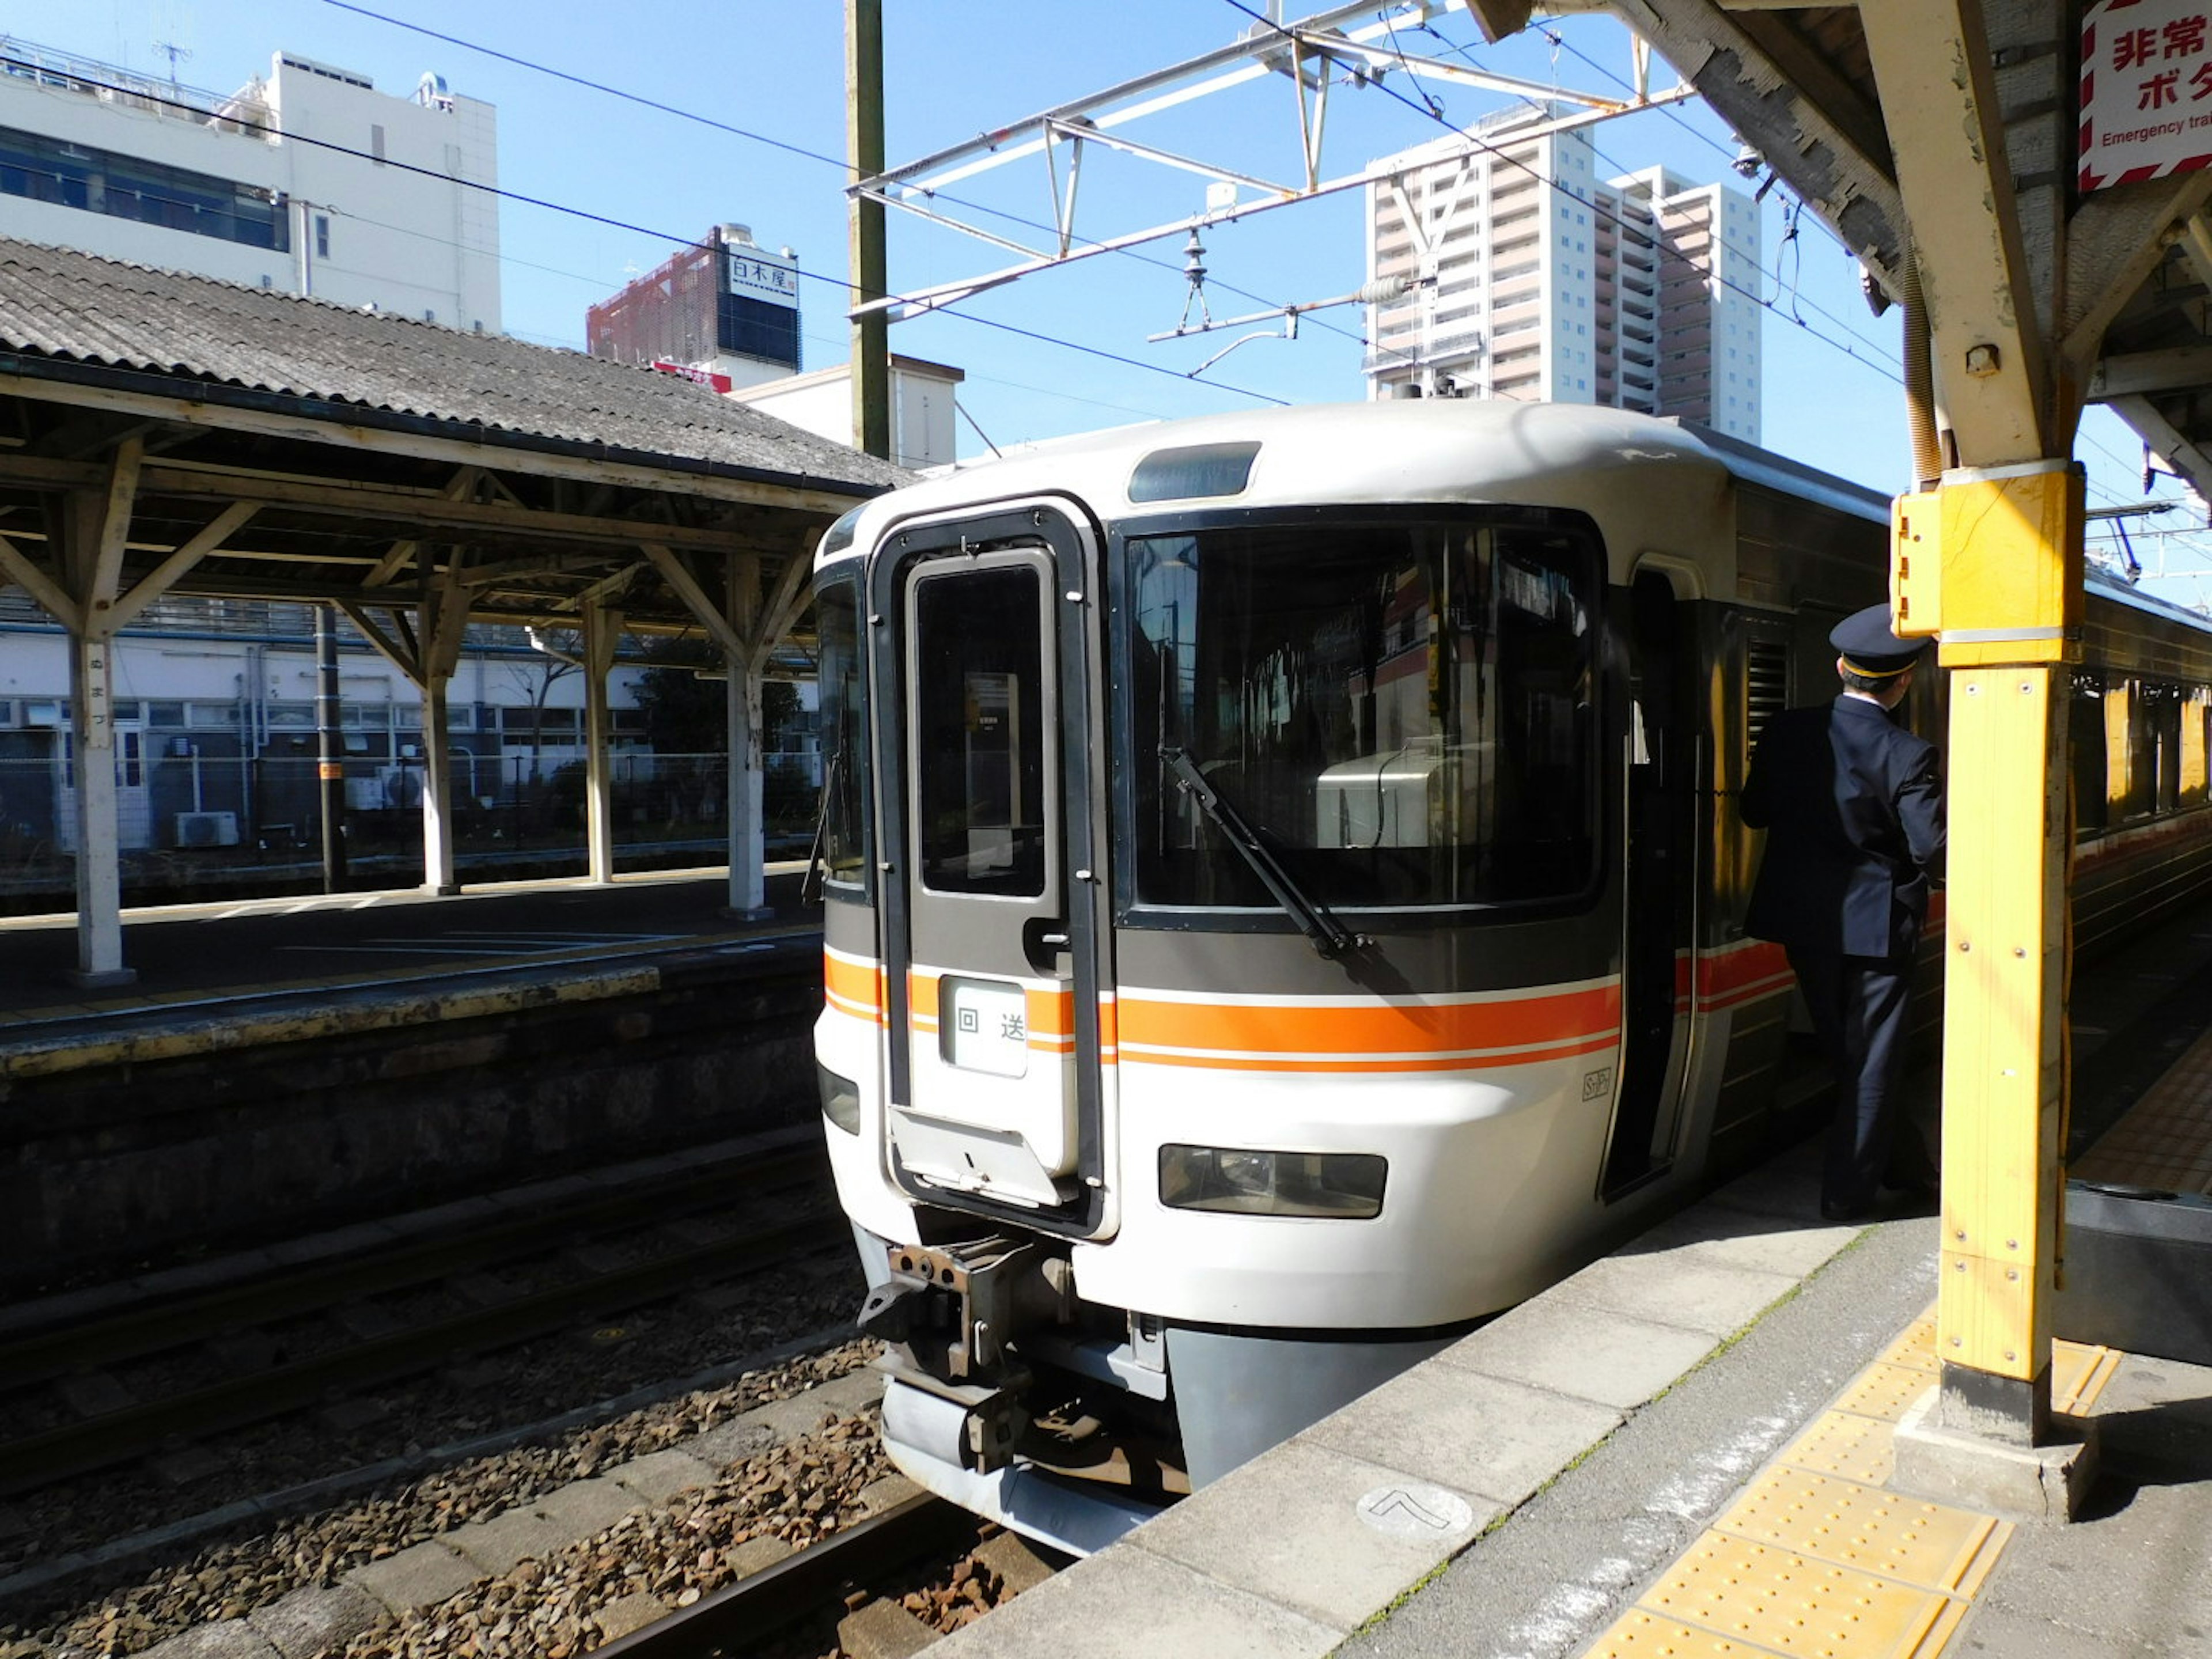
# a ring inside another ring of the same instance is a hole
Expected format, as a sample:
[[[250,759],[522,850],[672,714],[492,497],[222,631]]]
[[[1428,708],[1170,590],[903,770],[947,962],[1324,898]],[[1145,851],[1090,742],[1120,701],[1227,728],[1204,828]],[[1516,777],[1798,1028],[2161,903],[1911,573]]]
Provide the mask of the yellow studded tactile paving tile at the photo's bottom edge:
[[[1966,1617],[1938,1590],[1719,1533],[1692,1544],[1644,1606],[1807,1659],[1927,1659]]]

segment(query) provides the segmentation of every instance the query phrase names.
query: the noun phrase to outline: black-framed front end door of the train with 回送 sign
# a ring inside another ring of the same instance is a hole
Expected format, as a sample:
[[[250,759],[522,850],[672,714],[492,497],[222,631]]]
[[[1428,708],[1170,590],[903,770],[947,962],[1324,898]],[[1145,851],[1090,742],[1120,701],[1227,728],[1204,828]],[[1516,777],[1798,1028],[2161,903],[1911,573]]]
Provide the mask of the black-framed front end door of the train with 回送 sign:
[[[878,555],[887,1164],[916,1197],[1095,1232],[1093,540],[1031,509]]]

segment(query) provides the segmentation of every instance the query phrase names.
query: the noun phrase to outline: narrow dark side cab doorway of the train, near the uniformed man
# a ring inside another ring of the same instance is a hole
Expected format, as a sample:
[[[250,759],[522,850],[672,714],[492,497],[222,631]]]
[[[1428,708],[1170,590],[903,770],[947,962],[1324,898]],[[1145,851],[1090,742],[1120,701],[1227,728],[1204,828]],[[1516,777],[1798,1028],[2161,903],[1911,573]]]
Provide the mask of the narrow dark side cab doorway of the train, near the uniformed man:
[[[1697,635],[1666,571],[1628,591],[1621,1064],[1604,1197],[1666,1170],[1688,1073],[1697,949],[1697,770],[1703,754]]]

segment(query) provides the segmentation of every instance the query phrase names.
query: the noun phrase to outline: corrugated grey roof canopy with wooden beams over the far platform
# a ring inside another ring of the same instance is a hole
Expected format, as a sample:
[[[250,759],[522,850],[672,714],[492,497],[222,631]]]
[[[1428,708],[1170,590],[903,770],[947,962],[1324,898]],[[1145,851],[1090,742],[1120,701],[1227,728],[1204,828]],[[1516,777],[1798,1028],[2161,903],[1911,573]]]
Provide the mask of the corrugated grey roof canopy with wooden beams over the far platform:
[[[64,619],[64,502],[113,524],[122,493],[108,628],[161,593],[334,602],[409,653],[438,584],[471,622],[712,637],[732,560],[799,599],[905,478],[679,376],[0,239],[0,582]]]

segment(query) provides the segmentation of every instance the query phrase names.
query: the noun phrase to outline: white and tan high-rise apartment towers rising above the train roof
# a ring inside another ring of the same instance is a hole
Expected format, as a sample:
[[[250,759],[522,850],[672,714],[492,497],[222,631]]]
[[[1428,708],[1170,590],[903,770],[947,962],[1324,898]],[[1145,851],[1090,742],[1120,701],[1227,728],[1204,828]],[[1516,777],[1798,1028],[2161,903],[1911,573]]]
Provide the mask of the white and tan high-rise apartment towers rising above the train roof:
[[[1597,177],[1588,128],[1513,108],[1378,164],[1369,396],[1601,403],[1759,442],[1759,201]]]

